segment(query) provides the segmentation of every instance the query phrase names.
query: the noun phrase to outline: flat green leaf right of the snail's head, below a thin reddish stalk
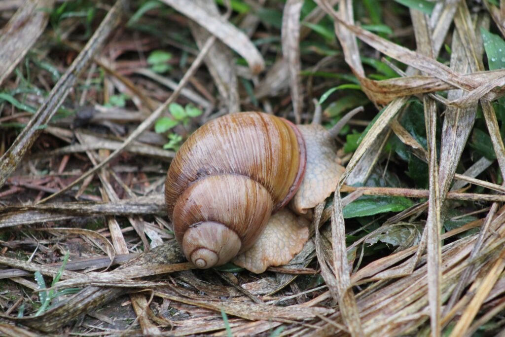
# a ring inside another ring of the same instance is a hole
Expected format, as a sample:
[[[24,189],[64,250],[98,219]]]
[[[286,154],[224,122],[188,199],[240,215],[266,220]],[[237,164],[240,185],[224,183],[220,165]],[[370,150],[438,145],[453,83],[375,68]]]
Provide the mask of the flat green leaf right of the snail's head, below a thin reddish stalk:
[[[403,197],[363,196],[345,206],[343,215],[345,219],[348,219],[386,212],[401,212],[412,205],[414,203],[410,199]]]

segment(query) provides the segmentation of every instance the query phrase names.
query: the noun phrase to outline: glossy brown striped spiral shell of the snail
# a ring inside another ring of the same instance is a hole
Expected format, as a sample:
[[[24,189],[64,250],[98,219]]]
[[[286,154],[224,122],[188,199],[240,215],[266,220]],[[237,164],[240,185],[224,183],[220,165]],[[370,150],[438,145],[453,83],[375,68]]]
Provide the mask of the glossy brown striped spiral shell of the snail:
[[[304,177],[305,142],[287,120],[229,114],[196,130],[170,165],[165,201],[177,240],[198,268],[247,251]]]

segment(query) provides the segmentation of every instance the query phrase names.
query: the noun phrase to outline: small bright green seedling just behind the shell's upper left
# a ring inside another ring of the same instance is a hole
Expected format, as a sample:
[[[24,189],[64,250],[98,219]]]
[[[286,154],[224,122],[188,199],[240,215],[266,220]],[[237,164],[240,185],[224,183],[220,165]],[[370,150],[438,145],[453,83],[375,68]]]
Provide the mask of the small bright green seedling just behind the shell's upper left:
[[[192,104],[187,104],[185,107],[182,107],[180,104],[172,103],[168,107],[168,110],[170,111],[172,118],[160,118],[155,124],[155,131],[157,133],[165,133],[180,124],[187,126],[191,121],[191,118],[198,117],[202,113],[200,109],[196,108]],[[182,142],[182,136],[177,133],[170,133],[168,135],[168,139],[169,142],[163,146],[163,149],[174,151],[179,150]]]

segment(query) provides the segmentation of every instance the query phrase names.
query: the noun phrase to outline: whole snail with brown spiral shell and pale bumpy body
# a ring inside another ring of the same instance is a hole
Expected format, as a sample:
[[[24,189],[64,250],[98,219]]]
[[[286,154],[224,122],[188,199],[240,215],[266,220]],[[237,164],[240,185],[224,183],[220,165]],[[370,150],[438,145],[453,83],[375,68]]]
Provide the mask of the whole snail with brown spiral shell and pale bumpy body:
[[[285,206],[305,214],[330,196],[343,172],[336,150],[333,134],[318,123],[294,125],[261,112],[228,114],[198,128],[165,181],[186,258],[201,269],[232,261],[255,273],[288,263],[309,229]]]

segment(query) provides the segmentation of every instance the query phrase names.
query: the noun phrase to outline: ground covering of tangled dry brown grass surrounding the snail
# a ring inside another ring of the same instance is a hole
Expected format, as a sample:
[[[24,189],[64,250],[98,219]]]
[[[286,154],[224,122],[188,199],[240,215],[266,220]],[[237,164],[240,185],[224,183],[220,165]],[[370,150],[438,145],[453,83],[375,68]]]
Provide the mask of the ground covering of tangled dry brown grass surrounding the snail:
[[[505,3],[218,3],[0,3],[1,333],[502,333]],[[304,250],[191,270],[161,195],[180,139],[314,99],[328,127],[365,111]],[[203,114],[167,132],[175,102]]]

